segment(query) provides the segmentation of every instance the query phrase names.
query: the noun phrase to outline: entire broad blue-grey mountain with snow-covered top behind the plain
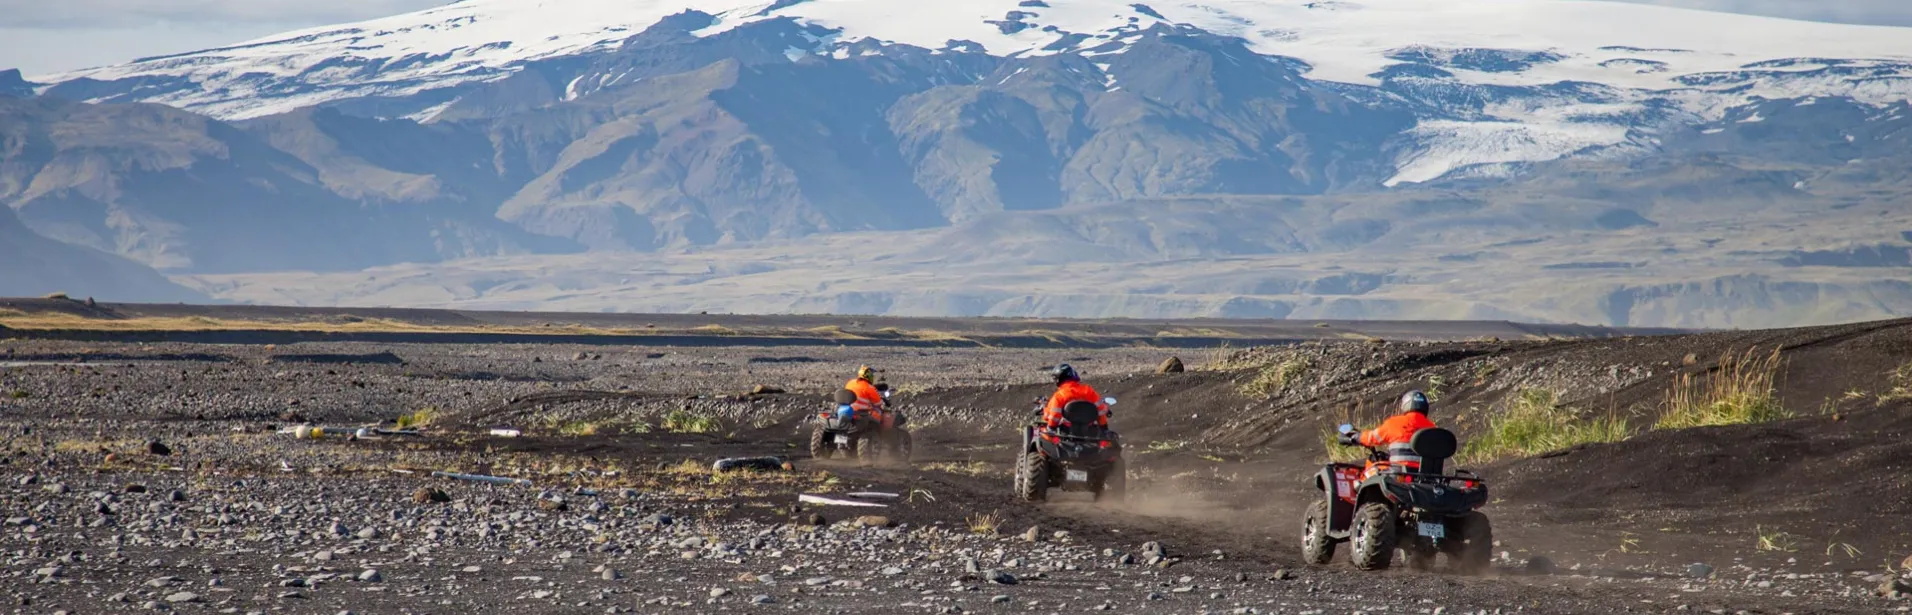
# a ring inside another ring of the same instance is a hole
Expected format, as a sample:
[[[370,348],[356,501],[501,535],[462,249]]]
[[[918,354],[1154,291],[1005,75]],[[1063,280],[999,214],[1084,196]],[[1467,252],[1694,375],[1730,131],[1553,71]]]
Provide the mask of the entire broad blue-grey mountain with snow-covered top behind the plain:
[[[1912,29],[465,0],[8,82],[0,206],[222,298],[1711,327],[1912,294]]]

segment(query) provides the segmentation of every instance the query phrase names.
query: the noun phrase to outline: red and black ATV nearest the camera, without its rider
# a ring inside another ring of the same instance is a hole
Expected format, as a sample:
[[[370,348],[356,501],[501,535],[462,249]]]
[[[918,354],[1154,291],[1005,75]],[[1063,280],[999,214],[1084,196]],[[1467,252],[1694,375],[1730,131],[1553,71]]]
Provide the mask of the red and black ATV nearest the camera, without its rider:
[[[1342,434],[1354,426],[1340,426]],[[1400,548],[1407,567],[1426,571],[1436,554],[1447,554],[1453,569],[1484,573],[1493,560],[1493,525],[1480,506],[1488,485],[1474,472],[1445,474],[1459,451],[1453,432],[1428,428],[1409,443],[1421,456],[1419,472],[1390,466],[1367,479],[1363,466],[1329,464],[1315,476],[1321,498],[1302,520],[1302,558],[1325,565],[1335,546],[1352,542],[1348,562],[1363,571],[1386,569]],[[1369,458],[1388,460],[1386,451],[1369,449]]]

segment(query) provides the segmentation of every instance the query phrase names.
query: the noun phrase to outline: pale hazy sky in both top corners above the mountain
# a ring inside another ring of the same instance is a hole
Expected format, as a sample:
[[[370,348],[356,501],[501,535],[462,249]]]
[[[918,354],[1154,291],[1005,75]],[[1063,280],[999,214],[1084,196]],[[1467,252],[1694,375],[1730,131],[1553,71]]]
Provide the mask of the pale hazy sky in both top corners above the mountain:
[[[941,0],[956,2],[956,0]],[[1533,0],[1549,2],[1549,0]],[[1912,0],[1627,0],[1795,19],[1912,25]],[[0,0],[0,69],[122,63],[445,0]]]

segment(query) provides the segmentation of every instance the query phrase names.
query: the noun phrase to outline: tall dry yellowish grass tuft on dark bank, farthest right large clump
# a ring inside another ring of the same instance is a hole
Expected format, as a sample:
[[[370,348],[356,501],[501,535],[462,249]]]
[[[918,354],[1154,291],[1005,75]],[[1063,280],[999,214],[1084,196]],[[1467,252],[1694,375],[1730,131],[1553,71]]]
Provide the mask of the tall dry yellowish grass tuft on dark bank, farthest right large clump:
[[[1728,351],[1704,382],[1694,374],[1681,374],[1673,382],[1654,428],[1686,430],[1792,418],[1793,413],[1780,403],[1772,388],[1778,371],[1778,348],[1767,355],[1751,348],[1744,355]]]

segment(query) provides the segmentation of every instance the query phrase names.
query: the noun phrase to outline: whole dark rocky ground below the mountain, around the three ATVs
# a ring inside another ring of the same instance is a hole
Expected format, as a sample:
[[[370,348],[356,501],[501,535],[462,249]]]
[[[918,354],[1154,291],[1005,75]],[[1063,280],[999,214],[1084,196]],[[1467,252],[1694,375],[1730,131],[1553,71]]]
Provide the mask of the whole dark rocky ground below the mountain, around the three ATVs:
[[[1176,351],[1187,371],[1159,372],[1170,351],[1151,348],[15,338],[0,342],[0,607],[1902,613],[1908,342],[1904,321],[1350,340]],[[1673,378],[1746,348],[1780,348],[1795,418],[1486,464],[1499,542],[1486,577],[1298,562],[1319,428],[1350,407],[1434,386],[1438,418],[1468,439],[1510,393],[1558,388],[1644,426]],[[1254,388],[1296,357],[1312,369]],[[1011,498],[1013,426],[1055,361],[1120,399],[1126,502]],[[820,395],[862,363],[914,416],[908,466],[799,451]],[[300,424],[421,435],[285,432]],[[790,468],[711,470],[759,455]],[[801,493],[893,497],[853,508]]]

